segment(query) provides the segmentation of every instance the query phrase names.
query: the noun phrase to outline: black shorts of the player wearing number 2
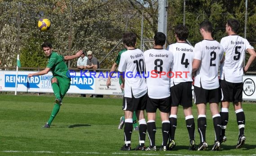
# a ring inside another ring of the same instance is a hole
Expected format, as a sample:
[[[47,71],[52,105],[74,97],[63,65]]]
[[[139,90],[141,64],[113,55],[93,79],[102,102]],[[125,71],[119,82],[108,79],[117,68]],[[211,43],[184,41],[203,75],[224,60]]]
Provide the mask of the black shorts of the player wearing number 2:
[[[221,102],[219,96],[219,88],[216,89],[203,89],[202,87],[194,86],[194,103],[195,104],[206,104],[208,103],[219,103]]]

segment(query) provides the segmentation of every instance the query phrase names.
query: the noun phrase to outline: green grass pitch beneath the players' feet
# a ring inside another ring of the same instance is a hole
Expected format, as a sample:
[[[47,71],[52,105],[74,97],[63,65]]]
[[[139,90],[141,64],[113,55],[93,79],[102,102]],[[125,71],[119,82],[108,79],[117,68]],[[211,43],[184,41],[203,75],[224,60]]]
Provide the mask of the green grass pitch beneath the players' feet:
[[[122,99],[68,97],[63,100],[60,112],[51,128],[42,129],[53,108],[53,96],[0,94],[0,155],[253,155],[256,156],[256,104],[243,104],[246,116],[245,146],[235,149],[238,126],[234,108],[230,105],[227,142],[218,152],[212,152],[214,131],[212,116],[207,105],[207,151],[188,151],[189,137],[185,117],[180,107],[174,151],[120,151],[124,144],[123,130],[118,130],[123,115]],[[193,107],[197,128],[197,110]],[[157,113],[156,145],[162,143],[161,121]],[[138,144],[138,131],[132,133],[132,148]],[[196,144],[199,135],[196,129]],[[146,146],[149,140],[146,137]]]

